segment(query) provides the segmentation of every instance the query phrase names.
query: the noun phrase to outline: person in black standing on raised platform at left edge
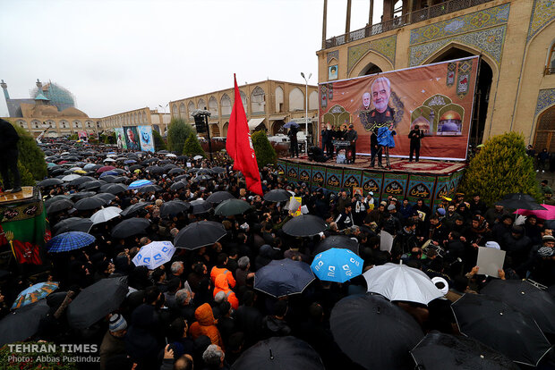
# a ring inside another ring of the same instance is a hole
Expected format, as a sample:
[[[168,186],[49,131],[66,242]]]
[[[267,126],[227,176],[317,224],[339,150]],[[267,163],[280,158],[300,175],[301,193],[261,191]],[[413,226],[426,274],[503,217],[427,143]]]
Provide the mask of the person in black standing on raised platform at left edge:
[[[21,191],[21,176],[17,168],[17,142],[20,136],[13,127],[12,123],[0,119],[0,174],[4,181],[4,191],[17,193]],[[10,179],[10,172],[13,174],[13,189]]]

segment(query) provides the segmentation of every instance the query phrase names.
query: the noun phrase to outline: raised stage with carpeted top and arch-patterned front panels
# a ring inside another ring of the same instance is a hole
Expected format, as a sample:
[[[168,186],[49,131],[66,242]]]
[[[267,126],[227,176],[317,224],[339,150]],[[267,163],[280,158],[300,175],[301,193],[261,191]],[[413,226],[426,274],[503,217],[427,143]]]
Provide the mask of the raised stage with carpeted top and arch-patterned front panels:
[[[305,182],[312,189],[325,188],[337,192],[362,188],[363,193],[374,193],[374,198],[401,200],[411,203],[422,198],[428,206],[437,206],[442,197],[452,196],[461,181],[465,162],[448,162],[421,159],[408,162],[406,158],[390,158],[391,169],[370,167],[370,156],[357,156],[354,164],[310,162],[301,158],[279,158],[278,172],[283,172],[289,182]],[[385,158],[383,163],[385,164]]]

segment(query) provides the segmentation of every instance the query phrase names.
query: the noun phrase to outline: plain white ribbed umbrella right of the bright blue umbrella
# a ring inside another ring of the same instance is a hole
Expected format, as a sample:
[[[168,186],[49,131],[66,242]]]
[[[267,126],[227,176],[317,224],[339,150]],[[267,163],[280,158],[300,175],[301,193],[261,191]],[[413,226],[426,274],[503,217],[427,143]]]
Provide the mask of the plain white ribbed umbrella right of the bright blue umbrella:
[[[431,279],[422,271],[407,265],[385,264],[374,266],[363,273],[368,291],[389,300],[405,300],[427,305],[443,296]]]

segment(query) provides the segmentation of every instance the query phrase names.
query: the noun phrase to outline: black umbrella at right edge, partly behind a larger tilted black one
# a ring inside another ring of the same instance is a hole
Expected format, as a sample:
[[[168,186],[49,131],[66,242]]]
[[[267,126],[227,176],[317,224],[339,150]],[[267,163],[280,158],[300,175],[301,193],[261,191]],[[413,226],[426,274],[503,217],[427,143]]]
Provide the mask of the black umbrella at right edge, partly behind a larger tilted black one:
[[[480,292],[531,315],[542,332],[555,334],[555,299],[548,292],[522,280],[494,280]]]

